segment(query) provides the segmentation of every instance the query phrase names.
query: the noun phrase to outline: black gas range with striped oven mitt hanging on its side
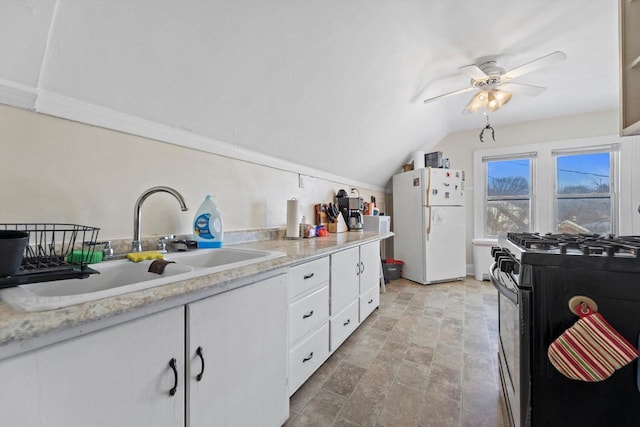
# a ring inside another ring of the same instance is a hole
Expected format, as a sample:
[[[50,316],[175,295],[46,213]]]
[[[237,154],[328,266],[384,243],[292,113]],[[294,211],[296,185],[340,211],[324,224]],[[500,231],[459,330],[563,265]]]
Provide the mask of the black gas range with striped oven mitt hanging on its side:
[[[640,237],[510,233],[492,250],[499,291],[498,362],[515,426],[640,426],[640,374],[633,362],[585,383],[560,374],[549,345],[578,317],[569,301],[588,297],[633,345],[640,333]]]

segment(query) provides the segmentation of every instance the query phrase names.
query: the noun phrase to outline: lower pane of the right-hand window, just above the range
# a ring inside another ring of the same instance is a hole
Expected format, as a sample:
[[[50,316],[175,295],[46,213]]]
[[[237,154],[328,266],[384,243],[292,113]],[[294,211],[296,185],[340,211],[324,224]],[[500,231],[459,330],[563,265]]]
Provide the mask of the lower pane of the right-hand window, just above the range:
[[[561,233],[611,233],[611,199],[557,199],[556,221]]]

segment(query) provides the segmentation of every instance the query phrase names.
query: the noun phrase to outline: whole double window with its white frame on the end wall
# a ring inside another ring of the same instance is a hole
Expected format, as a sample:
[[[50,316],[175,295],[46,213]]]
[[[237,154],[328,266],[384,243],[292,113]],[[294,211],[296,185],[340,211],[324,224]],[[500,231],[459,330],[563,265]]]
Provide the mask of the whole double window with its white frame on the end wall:
[[[476,150],[474,236],[633,234],[637,197],[628,174],[620,178],[634,145],[605,135]]]

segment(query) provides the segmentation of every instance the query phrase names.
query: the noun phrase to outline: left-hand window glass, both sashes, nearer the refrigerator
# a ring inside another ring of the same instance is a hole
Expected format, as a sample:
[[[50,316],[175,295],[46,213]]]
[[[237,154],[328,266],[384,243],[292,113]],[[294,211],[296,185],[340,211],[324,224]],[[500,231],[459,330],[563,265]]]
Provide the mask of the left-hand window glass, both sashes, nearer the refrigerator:
[[[483,158],[485,165],[485,235],[531,231],[533,155]]]

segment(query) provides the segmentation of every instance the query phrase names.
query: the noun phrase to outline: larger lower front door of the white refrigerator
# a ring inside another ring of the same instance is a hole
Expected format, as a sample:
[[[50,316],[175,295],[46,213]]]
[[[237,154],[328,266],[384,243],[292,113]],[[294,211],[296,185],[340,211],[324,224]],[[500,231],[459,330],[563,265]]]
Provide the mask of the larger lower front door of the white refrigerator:
[[[426,282],[464,279],[467,271],[464,207],[427,206]]]

